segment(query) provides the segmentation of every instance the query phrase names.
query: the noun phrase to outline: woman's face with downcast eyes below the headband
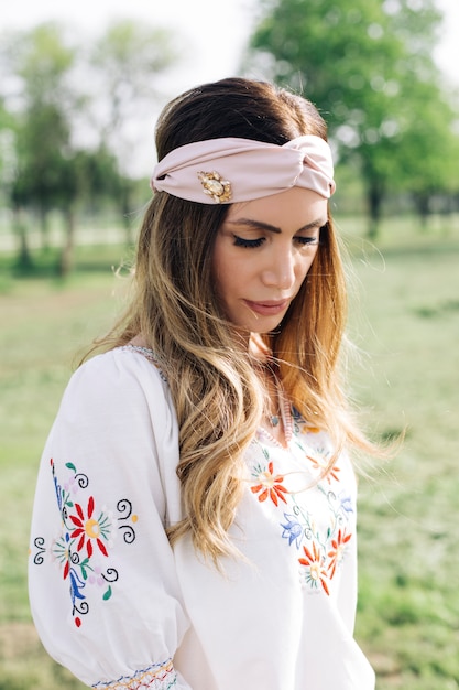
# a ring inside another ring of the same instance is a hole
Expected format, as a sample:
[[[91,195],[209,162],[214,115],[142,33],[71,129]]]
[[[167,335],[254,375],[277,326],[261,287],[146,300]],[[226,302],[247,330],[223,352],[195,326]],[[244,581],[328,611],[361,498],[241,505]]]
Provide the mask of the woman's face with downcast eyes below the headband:
[[[327,223],[316,192],[286,192],[233,204],[214,249],[214,276],[226,317],[249,333],[269,333],[298,293]]]

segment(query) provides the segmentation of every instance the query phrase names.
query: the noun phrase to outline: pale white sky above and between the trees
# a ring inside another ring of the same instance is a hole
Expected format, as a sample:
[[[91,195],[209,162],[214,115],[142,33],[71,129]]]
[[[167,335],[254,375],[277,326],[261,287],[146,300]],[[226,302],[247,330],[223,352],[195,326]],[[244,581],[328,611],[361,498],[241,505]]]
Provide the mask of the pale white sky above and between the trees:
[[[449,80],[459,87],[459,0],[436,0],[436,3],[446,21],[435,58]],[[97,35],[112,20],[125,18],[170,29],[184,58],[162,85],[164,94],[163,103],[157,104],[159,112],[172,97],[187,88],[240,74],[241,57],[259,4],[259,0],[3,0],[0,32],[62,21],[76,34]]]

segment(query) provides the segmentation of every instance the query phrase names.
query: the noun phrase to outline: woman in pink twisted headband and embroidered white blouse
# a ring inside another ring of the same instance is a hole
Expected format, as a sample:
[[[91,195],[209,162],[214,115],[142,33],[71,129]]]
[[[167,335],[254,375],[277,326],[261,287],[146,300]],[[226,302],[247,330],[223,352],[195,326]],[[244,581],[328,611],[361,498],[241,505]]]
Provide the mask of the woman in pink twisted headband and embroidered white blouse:
[[[370,690],[326,126],[232,78],[156,147],[131,304],[43,455],[37,630],[94,688]]]

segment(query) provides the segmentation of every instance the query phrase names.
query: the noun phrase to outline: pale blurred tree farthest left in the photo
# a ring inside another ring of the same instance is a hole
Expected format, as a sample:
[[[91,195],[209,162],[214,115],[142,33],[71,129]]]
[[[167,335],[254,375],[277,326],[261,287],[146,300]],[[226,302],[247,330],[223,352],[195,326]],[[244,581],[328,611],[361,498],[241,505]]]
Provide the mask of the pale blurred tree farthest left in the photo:
[[[10,36],[3,60],[10,63],[10,74],[20,85],[14,103],[15,165],[10,198],[21,240],[19,259],[26,268],[30,252],[22,209],[37,209],[46,242],[50,211],[73,174],[67,163],[72,155],[69,112],[75,98],[67,77],[75,50],[64,43],[56,24],[41,24]],[[74,182],[70,187],[75,193]]]

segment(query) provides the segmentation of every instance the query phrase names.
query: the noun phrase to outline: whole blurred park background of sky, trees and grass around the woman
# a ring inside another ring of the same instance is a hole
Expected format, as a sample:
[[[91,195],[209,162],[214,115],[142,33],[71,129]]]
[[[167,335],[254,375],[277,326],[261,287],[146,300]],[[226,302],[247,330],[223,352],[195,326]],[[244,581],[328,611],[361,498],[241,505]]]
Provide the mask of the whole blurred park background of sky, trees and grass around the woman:
[[[129,291],[159,112],[232,75],[302,91],[329,125],[351,395],[378,438],[406,430],[360,478],[358,640],[379,690],[459,688],[458,1],[4,4],[0,690],[83,688],[29,613],[37,463],[78,357]]]

